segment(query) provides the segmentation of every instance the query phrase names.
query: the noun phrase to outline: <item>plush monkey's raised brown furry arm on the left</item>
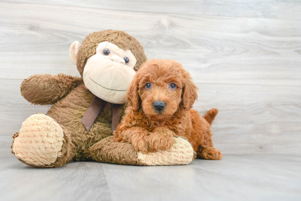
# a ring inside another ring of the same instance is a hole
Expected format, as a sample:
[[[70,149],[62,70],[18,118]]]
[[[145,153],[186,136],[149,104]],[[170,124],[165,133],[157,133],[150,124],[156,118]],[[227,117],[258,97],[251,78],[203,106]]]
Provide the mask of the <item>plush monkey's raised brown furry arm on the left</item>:
[[[52,105],[65,97],[83,80],[70,75],[32,75],[21,84],[21,95],[29,102],[38,105]]]

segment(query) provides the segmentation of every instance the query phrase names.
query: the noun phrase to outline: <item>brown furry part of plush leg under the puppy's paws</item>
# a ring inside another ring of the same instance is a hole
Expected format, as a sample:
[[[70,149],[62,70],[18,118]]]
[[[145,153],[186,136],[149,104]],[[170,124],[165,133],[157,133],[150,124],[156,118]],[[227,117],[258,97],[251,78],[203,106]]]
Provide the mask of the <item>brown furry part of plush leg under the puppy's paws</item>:
[[[95,143],[89,153],[93,160],[104,163],[143,165],[138,160],[137,152],[132,145],[126,142],[114,142],[114,137],[110,136],[100,142]]]

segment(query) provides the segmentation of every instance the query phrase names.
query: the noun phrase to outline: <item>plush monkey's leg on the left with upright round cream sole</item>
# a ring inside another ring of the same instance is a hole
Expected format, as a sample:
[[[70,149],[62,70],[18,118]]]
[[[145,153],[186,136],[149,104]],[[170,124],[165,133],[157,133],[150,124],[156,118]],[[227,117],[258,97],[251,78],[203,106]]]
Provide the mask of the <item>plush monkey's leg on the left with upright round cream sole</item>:
[[[75,154],[70,134],[45,114],[27,118],[13,138],[12,153],[33,167],[58,167],[70,162]]]

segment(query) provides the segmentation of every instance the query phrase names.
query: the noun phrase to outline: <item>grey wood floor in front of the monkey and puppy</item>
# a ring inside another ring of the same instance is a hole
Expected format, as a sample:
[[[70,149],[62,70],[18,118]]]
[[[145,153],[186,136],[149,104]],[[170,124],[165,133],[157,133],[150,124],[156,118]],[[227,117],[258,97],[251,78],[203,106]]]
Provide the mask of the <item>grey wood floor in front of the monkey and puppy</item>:
[[[0,157],[1,200],[300,200],[301,157],[228,155],[139,167],[73,162],[38,169]]]

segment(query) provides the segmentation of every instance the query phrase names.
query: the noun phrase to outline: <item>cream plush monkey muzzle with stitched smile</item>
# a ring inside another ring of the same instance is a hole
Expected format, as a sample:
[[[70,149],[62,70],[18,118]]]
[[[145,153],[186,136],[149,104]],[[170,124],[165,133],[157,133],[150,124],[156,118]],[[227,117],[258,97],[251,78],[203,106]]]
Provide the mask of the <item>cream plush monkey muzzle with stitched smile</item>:
[[[116,104],[126,103],[127,87],[136,72],[124,63],[115,55],[91,56],[83,72],[85,86],[100,99]]]

